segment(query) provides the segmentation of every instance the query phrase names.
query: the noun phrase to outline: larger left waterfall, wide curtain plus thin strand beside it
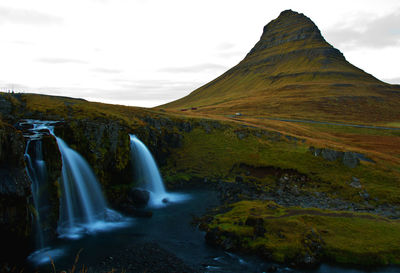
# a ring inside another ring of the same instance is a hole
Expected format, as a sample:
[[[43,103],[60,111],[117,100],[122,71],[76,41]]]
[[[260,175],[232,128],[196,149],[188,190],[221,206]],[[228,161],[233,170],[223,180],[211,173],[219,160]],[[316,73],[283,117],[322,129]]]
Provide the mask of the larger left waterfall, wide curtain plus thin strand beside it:
[[[54,122],[27,120],[25,124],[33,125],[25,153],[27,171],[32,181],[32,195],[36,207],[36,226],[39,235],[39,250],[30,255],[30,260],[35,263],[49,261],[49,256],[62,255],[62,250],[46,247],[46,234],[43,234],[41,217],[46,217],[42,203],[48,196],[43,195],[46,187],[46,163],[43,160],[41,137],[45,129],[52,134],[58,144],[62,157],[60,218],[57,231],[60,237],[70,239],[80,238],[86,233],[106,231],[113,228],[129,225],[129,219],[123,218],[119,213],[107,207],[107,203],[89,164],[75,150],[54,134]],[[48,134],[48,133],[47,133]],[[29,154],[29,147],[35,141],[34,155]]]

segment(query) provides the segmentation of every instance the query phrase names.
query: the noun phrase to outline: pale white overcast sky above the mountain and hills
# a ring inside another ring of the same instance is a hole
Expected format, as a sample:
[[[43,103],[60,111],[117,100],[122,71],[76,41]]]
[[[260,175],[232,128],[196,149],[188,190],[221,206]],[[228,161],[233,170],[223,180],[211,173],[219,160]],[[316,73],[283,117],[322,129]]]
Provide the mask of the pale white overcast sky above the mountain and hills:
[[[0,90],[160,105],[236,65],[285,9],[400,84],[398,0],[2,0]]]

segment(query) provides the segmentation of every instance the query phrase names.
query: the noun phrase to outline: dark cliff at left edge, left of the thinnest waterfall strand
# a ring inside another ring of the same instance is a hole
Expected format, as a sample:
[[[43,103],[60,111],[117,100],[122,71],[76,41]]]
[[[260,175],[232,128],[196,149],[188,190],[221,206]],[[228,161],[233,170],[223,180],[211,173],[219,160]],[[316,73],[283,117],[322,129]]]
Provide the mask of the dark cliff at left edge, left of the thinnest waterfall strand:
[[[25,172],[24,138],[7,124],[0,124],[0,241],[1,260],[20,257],[30,249],[30,180]]]

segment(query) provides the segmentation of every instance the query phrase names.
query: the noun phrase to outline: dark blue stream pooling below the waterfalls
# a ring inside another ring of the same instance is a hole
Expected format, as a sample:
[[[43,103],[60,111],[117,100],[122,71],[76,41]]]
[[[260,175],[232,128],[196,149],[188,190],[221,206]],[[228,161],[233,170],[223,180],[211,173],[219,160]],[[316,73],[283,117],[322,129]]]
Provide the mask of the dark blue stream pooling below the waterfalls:
[[[182,259],[188,266],[201,272],[268,272],[271,266],[276,266],[275,272],[399,272],[398,267],[367,269],[329,264],[322,264],[312,270],[300,270],[208,246],[204,240],[204,232],[191,225],[191,221],[193,216],[201,216],[207,208],[219,205],[217,193],[197,189],[183,194],[188,195],[189,198],[179,203],[169,203],[164,207],[153,209],[151,218],[131,218],[119,228],[90,233],[78,239],[57,239],[48,251],[49,255],[53,256],[57,272],[61,269],[70,270],[80,249],[82,251],[78,264],[90,267],[98,265],[104,259],[112,259],[115,253],[125,247],[145,242],[157,243]],[[29,266],[32,271],[54,272],[49,262],[39,266],[30,263]]]

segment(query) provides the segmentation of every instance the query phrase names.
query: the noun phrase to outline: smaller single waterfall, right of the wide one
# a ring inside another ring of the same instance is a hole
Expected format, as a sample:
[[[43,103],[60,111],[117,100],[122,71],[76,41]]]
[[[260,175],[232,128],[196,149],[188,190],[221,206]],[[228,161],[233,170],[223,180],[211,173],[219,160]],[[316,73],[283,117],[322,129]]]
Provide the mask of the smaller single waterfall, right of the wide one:
[[[129,136],[136,184],[150,192],[149,205],[151,207],[161,207],[169,202],[187,200],[188,196],[185,194],[169,193],[165,190],[157,163],[149,149],[135,135]]]

